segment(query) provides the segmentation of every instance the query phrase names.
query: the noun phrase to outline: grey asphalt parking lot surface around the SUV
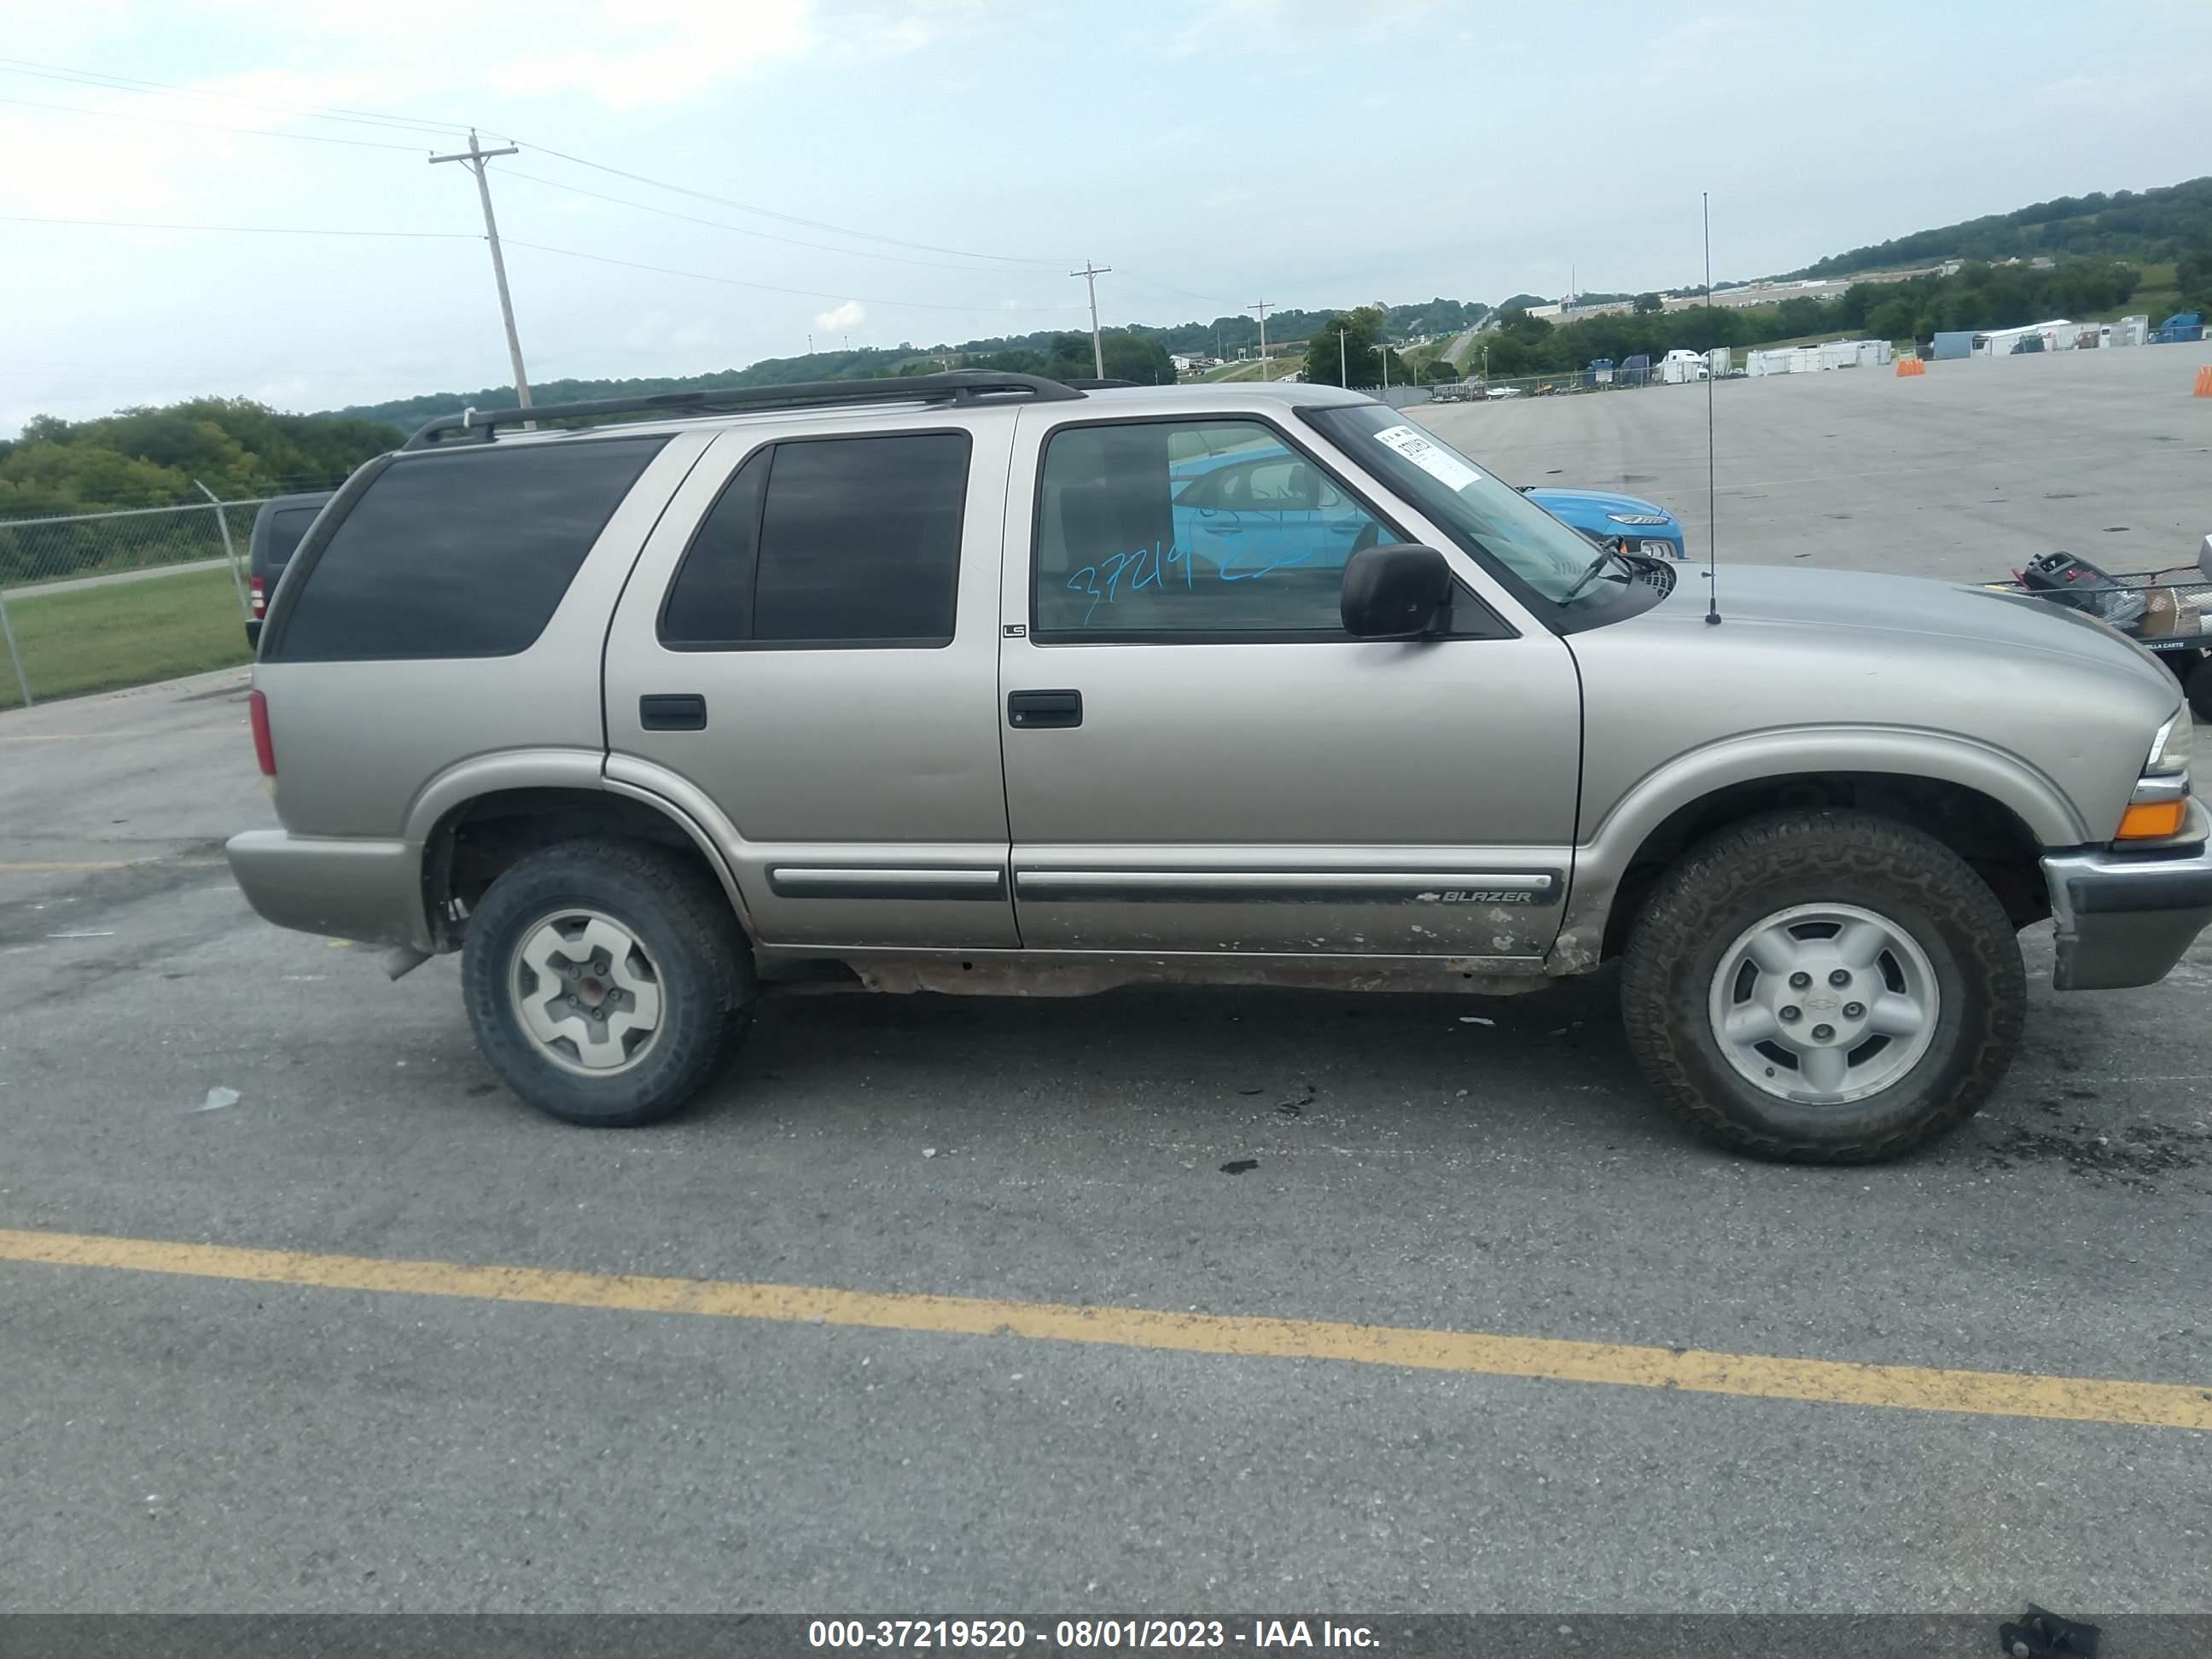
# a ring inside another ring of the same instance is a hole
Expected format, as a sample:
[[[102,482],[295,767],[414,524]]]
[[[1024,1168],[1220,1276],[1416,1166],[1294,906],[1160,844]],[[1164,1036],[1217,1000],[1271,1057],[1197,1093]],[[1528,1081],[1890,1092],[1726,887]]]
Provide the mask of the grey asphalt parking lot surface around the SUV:
[[[2199,361],[1717,387],[1723,611],[2190,560]],[[1703,551],[1703,387],[1429,418]],[[2212,1610],[2212,945],[2033,931],[1993,1106],[1871,1170],[1681,1139],[1610,975],[790,995],[595,1135],[451,960],[248,911],[243,695],[0,717],[4,1610]]]

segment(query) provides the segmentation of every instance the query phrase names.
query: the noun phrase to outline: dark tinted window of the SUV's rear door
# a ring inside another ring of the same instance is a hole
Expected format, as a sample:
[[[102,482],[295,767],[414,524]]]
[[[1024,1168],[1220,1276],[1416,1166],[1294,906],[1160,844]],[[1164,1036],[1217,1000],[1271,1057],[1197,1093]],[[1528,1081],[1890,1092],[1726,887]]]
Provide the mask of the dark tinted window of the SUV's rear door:
[[[964,431],[805,438],[754,453],[684,553],[661,644],[949,644],[967,467]]]

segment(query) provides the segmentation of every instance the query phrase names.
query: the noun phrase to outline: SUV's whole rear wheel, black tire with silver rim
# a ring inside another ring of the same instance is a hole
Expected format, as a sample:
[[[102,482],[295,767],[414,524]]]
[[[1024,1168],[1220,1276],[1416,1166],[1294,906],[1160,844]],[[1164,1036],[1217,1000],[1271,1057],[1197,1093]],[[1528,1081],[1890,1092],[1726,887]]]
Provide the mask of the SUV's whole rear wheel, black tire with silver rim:
[[[757,984],[721,889],[637,841],[571,841],[502,874],[462,993],[509,1088],[568,1124],[679,1110],[730,1055]]]

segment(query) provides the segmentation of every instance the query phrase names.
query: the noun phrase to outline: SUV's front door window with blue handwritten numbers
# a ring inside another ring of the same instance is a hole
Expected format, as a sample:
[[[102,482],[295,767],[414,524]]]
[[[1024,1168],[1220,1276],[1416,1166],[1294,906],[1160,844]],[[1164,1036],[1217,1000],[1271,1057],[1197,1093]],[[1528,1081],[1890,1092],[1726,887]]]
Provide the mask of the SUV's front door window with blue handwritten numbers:
[[[1035,628],[1336,635],[1345,560],[1396,540],[1259,422],[1068,427],[1044,449]]]

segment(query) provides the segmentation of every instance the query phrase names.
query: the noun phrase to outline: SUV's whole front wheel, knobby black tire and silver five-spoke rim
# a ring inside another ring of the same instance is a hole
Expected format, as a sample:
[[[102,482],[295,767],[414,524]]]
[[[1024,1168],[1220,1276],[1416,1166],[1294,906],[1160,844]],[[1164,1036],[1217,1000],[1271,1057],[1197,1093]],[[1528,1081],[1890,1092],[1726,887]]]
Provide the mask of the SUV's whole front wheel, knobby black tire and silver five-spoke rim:
[[[1708,1139],[1871,1164],[1971,1117],[2020,1040],[2020,940],[1940,841],[1858,812],[1723,830],[1659,883],[1621,964],[1646,1077]]]

